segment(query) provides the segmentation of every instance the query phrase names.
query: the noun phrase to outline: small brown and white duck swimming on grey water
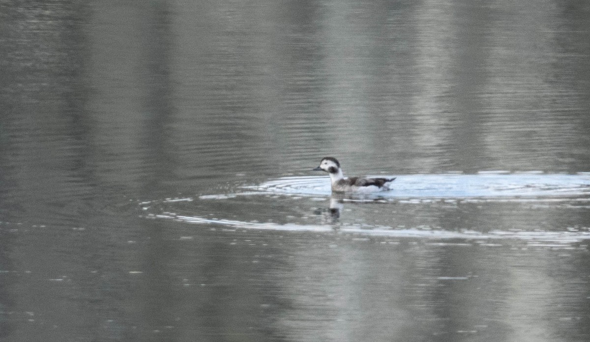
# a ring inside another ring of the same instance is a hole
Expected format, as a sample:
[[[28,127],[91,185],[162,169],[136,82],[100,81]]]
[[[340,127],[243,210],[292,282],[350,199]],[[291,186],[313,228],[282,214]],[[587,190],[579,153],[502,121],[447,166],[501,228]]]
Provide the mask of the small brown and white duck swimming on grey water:
[[[394,178],[362,178],[362,177],[344,177],[340,162],[334,157],[324,157],[320,161],[320,166],[313,171],[325,171],[330,174],[330,183],[332,191],[336,193],[344,192],[375,192],[391,190],[389,185],[395,180]]]

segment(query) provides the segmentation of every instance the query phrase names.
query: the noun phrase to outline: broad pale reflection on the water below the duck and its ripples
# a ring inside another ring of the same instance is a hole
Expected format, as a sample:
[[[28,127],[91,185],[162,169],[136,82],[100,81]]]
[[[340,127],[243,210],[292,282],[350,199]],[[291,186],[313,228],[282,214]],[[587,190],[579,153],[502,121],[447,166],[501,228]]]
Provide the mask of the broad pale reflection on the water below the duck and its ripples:
[[[399,274],[403,253],[390,249],[375,255],[358,247],[333,242],[301,250],[289,272],[273,275],[281,299],[289,303],[275,323],[280,335],[297,341],[382,340],[412,329],[408,319],[415,312],[404,307],[408,279]],[[383,263],[391,266],[375,272]]]

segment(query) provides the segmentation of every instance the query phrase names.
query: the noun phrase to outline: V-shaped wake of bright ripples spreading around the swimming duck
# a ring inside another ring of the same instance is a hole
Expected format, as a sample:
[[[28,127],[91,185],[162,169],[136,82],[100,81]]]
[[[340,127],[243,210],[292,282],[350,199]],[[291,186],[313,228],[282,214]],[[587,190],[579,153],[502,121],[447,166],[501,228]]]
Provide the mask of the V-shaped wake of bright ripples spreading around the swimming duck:
[[[366,237],[526,241],[590,239],[590,174],[398,175],[396,187],[335,195],[326,177],[283,177],[224,194],[140,203],[144,217],[225,230],[337,232]],[[519,229],[514,229],[519,227]],[[496,242],[493,242],[496,243]]]

